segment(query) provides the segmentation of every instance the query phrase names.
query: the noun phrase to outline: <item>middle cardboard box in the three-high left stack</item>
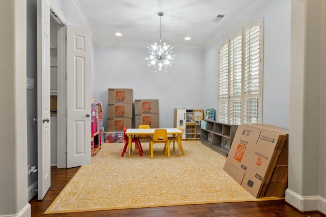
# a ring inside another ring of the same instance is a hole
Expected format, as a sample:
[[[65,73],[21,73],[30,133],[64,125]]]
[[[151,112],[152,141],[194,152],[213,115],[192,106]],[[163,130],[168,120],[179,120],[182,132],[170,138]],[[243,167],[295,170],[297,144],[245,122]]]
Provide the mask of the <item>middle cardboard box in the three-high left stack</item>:
[[[132,118],[132,103],[108,103],[107,117]]]

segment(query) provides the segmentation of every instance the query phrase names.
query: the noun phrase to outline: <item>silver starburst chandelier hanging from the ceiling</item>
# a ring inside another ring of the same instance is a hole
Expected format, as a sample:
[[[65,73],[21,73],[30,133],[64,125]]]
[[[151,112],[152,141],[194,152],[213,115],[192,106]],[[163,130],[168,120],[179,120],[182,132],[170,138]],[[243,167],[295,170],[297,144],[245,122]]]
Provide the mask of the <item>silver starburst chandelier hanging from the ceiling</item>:
[[[157,69],[161,71],[164,69],[167,72],[168,66],[172,67],[172,63],[175,57],[175,54],[171,54],[173,52],[173,47],[167,45],[167,43],[161,44],[161,17],[164,15],[163,12],[158,12],[157,15],[159,16],[159,44],[156,42],[152,44],[149,49],[150,56],[146,57],[148,60],[148,67],[154,66],[155,73]]]

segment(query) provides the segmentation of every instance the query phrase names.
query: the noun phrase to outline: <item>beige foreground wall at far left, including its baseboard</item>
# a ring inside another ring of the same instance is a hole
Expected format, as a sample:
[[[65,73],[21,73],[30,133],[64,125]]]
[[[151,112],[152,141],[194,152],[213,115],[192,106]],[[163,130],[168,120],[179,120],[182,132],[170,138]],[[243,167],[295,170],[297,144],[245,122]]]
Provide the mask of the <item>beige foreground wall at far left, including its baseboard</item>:
[[[0,1],[0,216],[29,216],[26,2]]]

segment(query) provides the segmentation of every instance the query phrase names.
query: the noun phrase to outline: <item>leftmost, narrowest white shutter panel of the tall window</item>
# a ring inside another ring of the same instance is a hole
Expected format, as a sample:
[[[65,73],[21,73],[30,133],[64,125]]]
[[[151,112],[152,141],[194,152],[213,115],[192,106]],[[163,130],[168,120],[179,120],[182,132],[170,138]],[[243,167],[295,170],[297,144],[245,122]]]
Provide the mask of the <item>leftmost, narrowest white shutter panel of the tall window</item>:
[[[228,122],[229,112],[229,45],[222,46],[220,52],[219,73],[219,121]]]

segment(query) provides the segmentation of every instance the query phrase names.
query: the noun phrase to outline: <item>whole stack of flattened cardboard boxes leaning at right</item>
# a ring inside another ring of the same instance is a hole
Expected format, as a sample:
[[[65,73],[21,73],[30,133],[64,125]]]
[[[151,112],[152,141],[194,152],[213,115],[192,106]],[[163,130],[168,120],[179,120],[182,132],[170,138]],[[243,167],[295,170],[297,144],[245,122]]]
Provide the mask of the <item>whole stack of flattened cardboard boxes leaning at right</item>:
[[[256,198],[283,197],[287,143],[287,132],[275,126],[238,126],[224,170]]]

